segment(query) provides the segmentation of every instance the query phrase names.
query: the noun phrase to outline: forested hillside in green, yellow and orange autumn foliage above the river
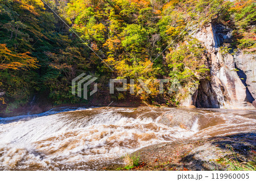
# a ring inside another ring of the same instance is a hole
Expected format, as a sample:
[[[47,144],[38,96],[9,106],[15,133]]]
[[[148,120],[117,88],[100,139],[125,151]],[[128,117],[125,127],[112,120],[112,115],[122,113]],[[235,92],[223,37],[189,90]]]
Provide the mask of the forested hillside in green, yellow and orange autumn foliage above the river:
[[[208,24],[232,30],[230,41],[221,45],[223,54],[256,50],[254,0],[44,2],[0,0],[1,112],[33,99],[55,105],[134,99],[177,106],[191,87],[210,79],[209,53],[192,36]],[[89,100],[71,94],[71,80],[81,73],[98,78],[99,91]],[[169,83],[157,94],[159,86],[150,82],[152,94],[137,94],[135,80],[135,94],[110,95],[109,78],[179,79],[183,92],[168,94]]]

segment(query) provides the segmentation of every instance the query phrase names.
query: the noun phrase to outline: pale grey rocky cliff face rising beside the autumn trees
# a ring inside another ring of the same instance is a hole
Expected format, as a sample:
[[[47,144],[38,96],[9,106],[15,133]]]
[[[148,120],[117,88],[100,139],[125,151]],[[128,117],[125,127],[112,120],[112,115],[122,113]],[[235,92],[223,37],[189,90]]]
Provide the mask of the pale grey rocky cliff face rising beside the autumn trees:
[[[211,79],[201,80],[181,106],[254,109],[256,54],[222,52],[220,47],[224,43],[231,43],[232,35],[231,30],[221,24],[209,24],[191,34],[207,48]]]

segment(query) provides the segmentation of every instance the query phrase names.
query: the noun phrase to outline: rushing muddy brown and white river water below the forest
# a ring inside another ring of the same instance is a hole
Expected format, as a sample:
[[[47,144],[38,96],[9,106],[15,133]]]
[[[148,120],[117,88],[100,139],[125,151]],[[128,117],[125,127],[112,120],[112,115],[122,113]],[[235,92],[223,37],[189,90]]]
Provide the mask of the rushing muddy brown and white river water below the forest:
[[[250,132],[255,125],[255,111],[175,108],[65,108],[9,117],[0,119],[0,169],[93,170],[147,145]]]

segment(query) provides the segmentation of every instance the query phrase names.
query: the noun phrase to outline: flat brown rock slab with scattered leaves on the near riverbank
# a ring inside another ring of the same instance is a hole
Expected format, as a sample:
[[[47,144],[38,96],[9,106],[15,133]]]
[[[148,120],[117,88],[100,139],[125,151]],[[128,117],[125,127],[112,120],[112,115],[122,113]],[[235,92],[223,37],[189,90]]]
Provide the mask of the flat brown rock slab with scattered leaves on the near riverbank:
[[[256,133],[151,145],[136,151],[141,165],[131,170],[232,170],[229,161],[256,165]],[[102,170],[116,170],[112,165]],[[126,170],[126,169],[121,169]]]

